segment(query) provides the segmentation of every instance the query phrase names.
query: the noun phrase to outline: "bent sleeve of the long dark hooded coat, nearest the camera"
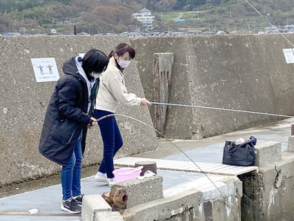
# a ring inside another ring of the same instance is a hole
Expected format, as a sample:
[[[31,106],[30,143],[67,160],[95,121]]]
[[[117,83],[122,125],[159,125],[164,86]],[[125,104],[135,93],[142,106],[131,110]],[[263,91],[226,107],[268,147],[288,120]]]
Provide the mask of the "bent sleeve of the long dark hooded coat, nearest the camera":
[[[68,117],[68,119],[76,122],[88,123],[90,116],[81,111],[81,108],[77,108],[77,100],[82,99],[79,97],[78,88],[79,85],[72,79],[68,79],[66,82],[61,82],[59,85],[59,111],[62,115]],[[88,104],[88,102],[86,102]]]

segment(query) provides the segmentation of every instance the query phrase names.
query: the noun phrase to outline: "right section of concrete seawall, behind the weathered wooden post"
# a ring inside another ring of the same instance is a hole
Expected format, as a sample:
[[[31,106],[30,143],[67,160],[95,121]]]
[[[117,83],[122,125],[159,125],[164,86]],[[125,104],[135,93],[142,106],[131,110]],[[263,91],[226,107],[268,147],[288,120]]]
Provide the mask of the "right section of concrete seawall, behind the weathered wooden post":
[[[294,35],[287,35],[293,42]],[[130,38],[145,95],[154,99],[153,54],[173,52],[169,102],[293,115],[294,64],[281,35],[183,35]],[[154,111],[151,109],[151,117]],[[169,106],[166,137],[210,137],[281,119],[268,115]]]

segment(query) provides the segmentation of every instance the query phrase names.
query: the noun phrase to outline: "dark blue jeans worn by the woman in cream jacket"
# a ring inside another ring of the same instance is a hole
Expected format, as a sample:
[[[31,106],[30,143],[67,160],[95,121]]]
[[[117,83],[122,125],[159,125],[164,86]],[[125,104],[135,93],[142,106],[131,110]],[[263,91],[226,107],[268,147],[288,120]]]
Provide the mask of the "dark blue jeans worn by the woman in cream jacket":
[[[94,110],[94,117],[96,119],[111,114],[113,113],[108,111]],[[112,171],[115,170],[115,166],[113,165],[113,157],[123,145],[121,133],[119,132],[119,127],[117,126],[115,116],[101,119],[98,124],[104,144],[103,160],[100,164],[99,172],[106,173],[108,178],[113,178],[115,177],[115,175],[112,173]]]

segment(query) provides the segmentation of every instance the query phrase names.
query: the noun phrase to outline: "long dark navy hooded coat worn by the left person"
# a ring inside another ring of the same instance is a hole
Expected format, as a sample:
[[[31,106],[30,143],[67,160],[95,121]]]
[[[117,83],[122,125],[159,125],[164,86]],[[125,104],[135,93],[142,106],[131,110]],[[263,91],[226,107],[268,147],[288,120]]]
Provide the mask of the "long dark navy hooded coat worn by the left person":
[[[65,75],[57,81],[48,104],[39,152],[49,160],[66,166],[80,136],[84,153],[90,115],[87,114],[87,83],[79,75],[75,57],[63,64],[63,73]]]

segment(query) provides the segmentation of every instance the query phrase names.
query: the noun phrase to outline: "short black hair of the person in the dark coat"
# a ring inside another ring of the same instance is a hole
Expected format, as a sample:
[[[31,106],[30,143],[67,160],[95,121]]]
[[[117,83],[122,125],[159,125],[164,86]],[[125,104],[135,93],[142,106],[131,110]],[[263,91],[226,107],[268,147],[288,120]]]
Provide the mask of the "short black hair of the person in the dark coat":
[[[82,68],[86,74],[102,73],[108,66],[108,57],[101,50],[92,48],[86,52],[83,58]]]

